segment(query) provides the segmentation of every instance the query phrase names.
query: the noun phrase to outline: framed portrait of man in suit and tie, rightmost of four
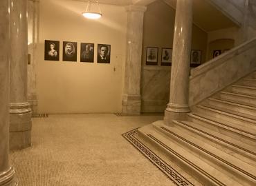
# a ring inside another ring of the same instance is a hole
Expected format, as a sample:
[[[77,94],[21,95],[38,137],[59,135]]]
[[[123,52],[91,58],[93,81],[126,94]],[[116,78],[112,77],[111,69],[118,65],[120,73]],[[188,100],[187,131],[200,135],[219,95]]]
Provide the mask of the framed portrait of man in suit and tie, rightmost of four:
[[[97,63],[110,63],[111,45],[98,44]]]

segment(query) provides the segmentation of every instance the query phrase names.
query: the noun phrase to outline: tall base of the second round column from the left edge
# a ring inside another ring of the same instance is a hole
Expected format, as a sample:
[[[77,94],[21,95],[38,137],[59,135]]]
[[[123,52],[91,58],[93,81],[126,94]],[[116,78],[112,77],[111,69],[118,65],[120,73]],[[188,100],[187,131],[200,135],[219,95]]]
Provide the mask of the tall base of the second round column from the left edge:
[[[31,110],[28,103],[10,103],[10,149],[31,146]]]

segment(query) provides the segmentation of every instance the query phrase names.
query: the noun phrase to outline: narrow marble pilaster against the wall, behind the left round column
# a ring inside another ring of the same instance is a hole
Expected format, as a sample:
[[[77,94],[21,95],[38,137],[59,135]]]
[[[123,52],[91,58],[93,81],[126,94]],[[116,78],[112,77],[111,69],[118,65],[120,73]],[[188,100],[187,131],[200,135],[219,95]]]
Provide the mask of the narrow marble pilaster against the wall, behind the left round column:
[[[39,36],[39,0],[28,1],[28,103],[32,116],[37,115],[36,54]]]

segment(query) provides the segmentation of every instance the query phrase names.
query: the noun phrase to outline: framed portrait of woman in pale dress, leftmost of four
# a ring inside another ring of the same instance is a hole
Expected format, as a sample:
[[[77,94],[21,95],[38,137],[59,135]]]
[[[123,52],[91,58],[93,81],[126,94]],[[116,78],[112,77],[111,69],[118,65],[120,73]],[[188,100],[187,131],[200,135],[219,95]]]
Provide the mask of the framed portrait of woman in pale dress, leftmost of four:
[[[60,41],[52,41],[52,40],[44,41],[44,60],[47,60],[47,61],[60,60]]]

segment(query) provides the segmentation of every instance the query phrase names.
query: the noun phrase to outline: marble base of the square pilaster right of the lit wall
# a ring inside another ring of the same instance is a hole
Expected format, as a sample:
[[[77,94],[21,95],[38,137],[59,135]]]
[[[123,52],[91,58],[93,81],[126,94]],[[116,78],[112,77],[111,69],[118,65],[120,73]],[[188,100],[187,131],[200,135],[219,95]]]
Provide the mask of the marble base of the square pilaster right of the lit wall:
[[[122,114],[140,115],[140,95],[125,94],[122,98]]]

